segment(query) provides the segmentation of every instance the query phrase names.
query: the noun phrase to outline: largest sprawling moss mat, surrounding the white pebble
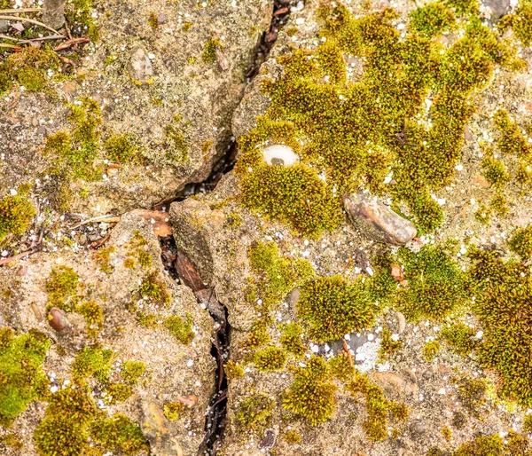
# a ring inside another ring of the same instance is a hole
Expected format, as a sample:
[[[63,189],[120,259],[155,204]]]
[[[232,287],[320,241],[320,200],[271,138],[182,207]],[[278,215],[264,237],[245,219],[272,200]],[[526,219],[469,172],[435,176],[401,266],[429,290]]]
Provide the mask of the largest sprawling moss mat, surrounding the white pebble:
[[[239,139],[244,204],[319,236],[343,220],[342,196],[362,186],[404,203],[419,232],[434,231],[443,215],[431,193],[453,177],[471,96],[496,67],[515,63],[515,51],[470,16],[477,7],[426,5],[411,13],[402,36],[392,9],[355,18],[324,3],[319,45],[278,58],[283,75],[262,87],[270,108]],[[449,47],[434,40],[458,28]],[[349,57],[364,59],[358,80]],[[301,163],[267,165],[260,149],[272,143],[291,146]],[[384,184],[390,173],[394,184]]]

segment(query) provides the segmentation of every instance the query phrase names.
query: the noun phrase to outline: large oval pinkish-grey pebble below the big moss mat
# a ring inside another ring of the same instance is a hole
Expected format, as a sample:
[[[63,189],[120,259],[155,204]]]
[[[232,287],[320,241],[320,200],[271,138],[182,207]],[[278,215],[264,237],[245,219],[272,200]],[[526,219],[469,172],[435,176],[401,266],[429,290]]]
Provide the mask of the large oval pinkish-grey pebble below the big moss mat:
[[[410,220],[364,194],[348,195],[344,200],[344,207],[351,222],[372,240],[403,245],[417,234],[416,226]]]

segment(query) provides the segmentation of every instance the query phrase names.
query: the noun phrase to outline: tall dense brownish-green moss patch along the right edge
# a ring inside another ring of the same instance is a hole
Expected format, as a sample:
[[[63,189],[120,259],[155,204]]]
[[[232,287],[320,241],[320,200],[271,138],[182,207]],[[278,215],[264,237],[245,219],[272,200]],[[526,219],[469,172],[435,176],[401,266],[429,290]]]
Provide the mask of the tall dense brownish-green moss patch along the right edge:
[[[473,311],[483,336],[477,353],[481,365],[500,374],[499,394],[521,405],[532,405],[532,279],[530,268],[504,262],[497,252],[474,250],[470,275],[475,290]]]

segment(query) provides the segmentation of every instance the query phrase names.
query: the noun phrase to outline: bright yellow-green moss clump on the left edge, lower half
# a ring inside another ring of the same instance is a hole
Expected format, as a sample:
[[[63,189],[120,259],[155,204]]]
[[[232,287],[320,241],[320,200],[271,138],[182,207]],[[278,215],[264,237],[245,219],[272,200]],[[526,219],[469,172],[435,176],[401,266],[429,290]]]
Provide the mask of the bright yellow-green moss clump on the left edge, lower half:
[[[0,425],[10,426],[48,383],[43,361],[51,342],[38,331],[0,328]]]

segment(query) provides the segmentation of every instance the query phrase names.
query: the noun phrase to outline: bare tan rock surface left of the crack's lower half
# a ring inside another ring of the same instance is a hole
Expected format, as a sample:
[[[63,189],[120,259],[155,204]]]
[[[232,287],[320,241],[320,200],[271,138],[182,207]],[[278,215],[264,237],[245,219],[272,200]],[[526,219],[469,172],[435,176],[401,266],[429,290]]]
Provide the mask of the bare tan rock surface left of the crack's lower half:
[[[139,265],[133,269],[124,267],[124,260],[129,257],[129,242],[135,232],[147,240],[145,252],[153,261],[147,268]],[[95,257],[98,250],[76,256],[67,248],[53,253],[36,254],[23,264],[15,262],[0,268],[0,289],[3,295],[0,300],[0,315],[3,325],[11,326],[20,333],[36,328],[47,334],[53,344],[44,362],[44,370],[52,384],[57,383],[56,379],[70,380],[76,352],[91,345],[92,341],[87,335],[81,315],[67,313],[69,327],[60,333],[49,326],[45,283],[54,266],[66,265],[73,268],[80,276],[80,295],[83,299],[94,300],[104,311],[104,327],[98,334],[98,342],[104,348],[116,352],[113,378],[118,378],[118,361],[143,361],[147,368],[146,380],[134,388],[133,396],[123,403],[105,405],[105,409],[109,413],[125,413],[132,421],[140,424],[146,401],[150,407],[162,410],[164,404],[175,402],[177,396],[194,394],[198,397],[197,405],[186,409],[177,421],[169,422],[166,418],[162,421],[171,438],[183,448],[183,453],[195,454],[203,439],[205,411],[214,386],[215,362],[210,355],[213,320],[207,311],[201,309],[189,288],[176,285],[168,277],[160,262],[159,241],[153,234],[152,227],[140,216],[122,216],[106,244],[106,248],[112,247],[115,250],[110,256],[109,265],[113,268],[110,274],[101,271],[101,263]],[[154,329],[141,326],[135,315],[127,311],[131,300],[137,299],[141,279],[148,271],[158,274],[171,295],[168,308],[157,311],[160,318],[170,315],[184,317],[187,312],[192,315],[195,335],[190,345],[178,342],[162,326]],[[8,290],[11,297],[6,297]],[[90,386],[94,388],[95,400],[103,406],[100,401],[101,391],[96,388],[94,380],[90,381]],[[43,403],[33,403],[13,423],[13,429],[24,443],[24,455],[36,454],[32,435],[43,416],[44,408]],[[14,456],[20,454],[20,450],[6,449],[3,454]]]

